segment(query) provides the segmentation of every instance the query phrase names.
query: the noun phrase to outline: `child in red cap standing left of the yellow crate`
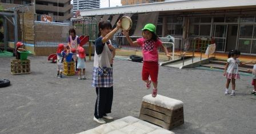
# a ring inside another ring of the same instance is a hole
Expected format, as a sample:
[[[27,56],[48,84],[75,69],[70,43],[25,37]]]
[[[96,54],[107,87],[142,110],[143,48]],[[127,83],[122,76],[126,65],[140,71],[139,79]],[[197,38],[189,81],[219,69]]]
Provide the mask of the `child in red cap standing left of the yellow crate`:
[[[58,50],[57,50],[57,74],[58,78],[63,78],[62,72],[63,72],[63,60],[64,57],[66,56],[66,52],[64,51],[64,44],[59,44],[58,45]]]

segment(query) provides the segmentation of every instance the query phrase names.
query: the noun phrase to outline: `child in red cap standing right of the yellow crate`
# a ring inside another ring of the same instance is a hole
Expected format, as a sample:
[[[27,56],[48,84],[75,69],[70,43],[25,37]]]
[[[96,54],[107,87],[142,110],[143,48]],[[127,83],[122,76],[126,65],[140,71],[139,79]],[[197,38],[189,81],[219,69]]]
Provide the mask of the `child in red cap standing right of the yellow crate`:
[[[77,68],[78,68],[78,80],[86,79],[86,77],[85,77],[85,49],[82,46],[78,46]],[[81,78],[82,71],[83,71],[83,76]]]

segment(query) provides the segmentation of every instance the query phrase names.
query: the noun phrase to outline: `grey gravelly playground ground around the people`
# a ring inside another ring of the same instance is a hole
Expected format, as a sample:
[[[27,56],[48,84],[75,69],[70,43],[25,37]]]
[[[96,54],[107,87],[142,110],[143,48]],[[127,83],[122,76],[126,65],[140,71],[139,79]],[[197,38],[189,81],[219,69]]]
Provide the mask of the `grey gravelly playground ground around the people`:
[[[86,62],[88,80],[55,77],[56,65],[45,56],[31,56],[31,74],[11,75],[10,59],[0,58],[0,133],[71,134],[95,128],[93,62]],[[141,81],[142,63],[114,61],[114,101],[111,116],[139,116],[142,97],[151,94]],[[256,96],[251,77],[237,80],[237,96],[225,96],[222,72],[159,68],[159,93],[184,103],[185,124],[175,133],[256,133]]]

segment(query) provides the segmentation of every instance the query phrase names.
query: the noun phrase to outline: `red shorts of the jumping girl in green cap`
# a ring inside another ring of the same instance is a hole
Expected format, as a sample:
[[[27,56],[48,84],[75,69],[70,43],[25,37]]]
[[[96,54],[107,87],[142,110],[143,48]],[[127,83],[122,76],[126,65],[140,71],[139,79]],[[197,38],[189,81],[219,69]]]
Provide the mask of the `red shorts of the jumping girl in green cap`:
[[[149,76],[152,82],[157,82],[158,62],[143,62],[142,80],[149,79]]]

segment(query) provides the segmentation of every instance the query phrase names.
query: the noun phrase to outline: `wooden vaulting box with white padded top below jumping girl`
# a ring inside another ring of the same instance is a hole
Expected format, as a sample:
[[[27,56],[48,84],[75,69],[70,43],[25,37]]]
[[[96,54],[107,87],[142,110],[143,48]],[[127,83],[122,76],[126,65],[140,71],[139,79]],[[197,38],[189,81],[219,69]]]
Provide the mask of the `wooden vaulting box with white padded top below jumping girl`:
[[[173,129],[184,123],[183,102],[162,95],[155,98],[146,95],[142,99],[139,119],[165,129]]]

